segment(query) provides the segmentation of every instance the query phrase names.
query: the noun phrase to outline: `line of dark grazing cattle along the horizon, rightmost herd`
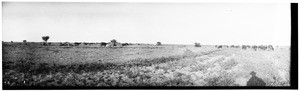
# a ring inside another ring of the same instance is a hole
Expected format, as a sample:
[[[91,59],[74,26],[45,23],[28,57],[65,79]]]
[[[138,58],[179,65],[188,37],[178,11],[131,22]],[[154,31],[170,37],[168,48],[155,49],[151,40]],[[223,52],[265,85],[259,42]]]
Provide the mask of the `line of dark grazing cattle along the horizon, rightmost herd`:
[[[220,48],[242,48],[244,50],[246,49],[253,49],[255,51],[257,50],[271,50],[271,51],[274,51],[274,47],[272,45],[231,45],[231,46],[228,46],[228,45],[216,45],[215,46],[216,48],[220,49]]]

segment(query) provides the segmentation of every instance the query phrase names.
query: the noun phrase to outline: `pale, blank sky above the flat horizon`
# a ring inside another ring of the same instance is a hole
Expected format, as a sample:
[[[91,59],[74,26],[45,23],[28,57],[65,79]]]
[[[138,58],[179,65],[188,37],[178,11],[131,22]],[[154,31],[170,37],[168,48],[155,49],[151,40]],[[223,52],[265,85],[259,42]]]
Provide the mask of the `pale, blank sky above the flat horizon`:
[[[290,25],[290,3],[2,3],[3,41],[290,45]]]

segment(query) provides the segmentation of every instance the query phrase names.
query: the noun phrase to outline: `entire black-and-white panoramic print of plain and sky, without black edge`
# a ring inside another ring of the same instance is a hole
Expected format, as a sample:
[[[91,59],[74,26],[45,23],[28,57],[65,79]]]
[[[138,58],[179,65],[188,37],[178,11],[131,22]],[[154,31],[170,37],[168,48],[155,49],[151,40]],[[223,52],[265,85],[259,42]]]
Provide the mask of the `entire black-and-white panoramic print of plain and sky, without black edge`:
[[[290,3],[2,2],[2,86],[289,87]]]

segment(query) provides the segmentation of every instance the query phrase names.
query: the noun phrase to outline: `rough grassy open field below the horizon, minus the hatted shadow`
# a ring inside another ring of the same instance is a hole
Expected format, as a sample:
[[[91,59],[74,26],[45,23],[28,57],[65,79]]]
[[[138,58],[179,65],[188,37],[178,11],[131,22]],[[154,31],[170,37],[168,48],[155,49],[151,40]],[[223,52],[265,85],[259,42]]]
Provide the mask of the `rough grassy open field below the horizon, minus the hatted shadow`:
[[[2,44],[3,86],[290,85],[289,47],[274,51],[214,45],[42,46]]]

